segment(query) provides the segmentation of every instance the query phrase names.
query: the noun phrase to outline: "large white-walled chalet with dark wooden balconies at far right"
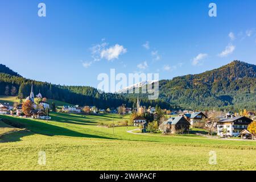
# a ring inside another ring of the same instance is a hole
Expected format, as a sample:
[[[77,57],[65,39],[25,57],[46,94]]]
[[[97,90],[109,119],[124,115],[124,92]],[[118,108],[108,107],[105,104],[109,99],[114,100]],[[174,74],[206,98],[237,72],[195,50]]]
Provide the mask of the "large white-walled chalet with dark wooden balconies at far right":
[[[253,120],[245,116],[220,119],[217,122],[217,135],[220,137],[236,137],[246,129]]]

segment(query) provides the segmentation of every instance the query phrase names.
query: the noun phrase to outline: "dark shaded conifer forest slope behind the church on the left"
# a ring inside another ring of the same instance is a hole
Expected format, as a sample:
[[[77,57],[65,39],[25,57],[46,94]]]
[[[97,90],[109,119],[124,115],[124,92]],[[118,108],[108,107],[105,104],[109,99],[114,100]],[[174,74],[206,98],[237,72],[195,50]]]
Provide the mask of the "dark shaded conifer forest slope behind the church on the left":
[[[68,102],[70,104],[78,104],[80,106],[89,105],[106,109],[108,107],[121,106],[122,104],[125,104],[127,107],[133,107],[137,102],[137,98],[135,97],[126,98],[120,94],[99,93],[97,89],[90,86],[55,85],[21,77],[10,69],[7,73],[11,74],[7,74],[6,72],[6,70],[4,70],[4,73],[0,72],[0,96],[18,96],[19,98],[25,98],[29,96],[31,84],[33,83],[35,94],[38,94],[40,91],[43,97]],[[162,108],[174,108],[170,104],[160,100],[148,101],[142,98],[141,103],[143,106],[147,107],[158,104]]]

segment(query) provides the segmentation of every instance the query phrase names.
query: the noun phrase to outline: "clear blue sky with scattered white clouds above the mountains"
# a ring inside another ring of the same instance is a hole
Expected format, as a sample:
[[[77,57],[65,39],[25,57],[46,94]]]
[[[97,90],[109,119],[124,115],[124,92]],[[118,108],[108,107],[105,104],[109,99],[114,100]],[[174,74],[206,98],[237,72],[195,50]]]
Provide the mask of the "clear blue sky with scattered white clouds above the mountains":
[[[170,79],[232,60],[256,64],[255,9],[254,0],[1,1],[0,63],[27,78],[94,87],[110,68]]]

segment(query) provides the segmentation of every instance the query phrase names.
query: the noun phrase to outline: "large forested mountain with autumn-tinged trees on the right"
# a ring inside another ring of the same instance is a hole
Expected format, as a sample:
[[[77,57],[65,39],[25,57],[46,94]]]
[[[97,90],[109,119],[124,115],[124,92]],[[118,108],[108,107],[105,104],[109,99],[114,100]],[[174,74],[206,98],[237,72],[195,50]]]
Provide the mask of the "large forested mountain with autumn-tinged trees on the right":
[[[256,108],[256,65],[233,61],[197,75],[161,80],[160,98],[187,109]]]

